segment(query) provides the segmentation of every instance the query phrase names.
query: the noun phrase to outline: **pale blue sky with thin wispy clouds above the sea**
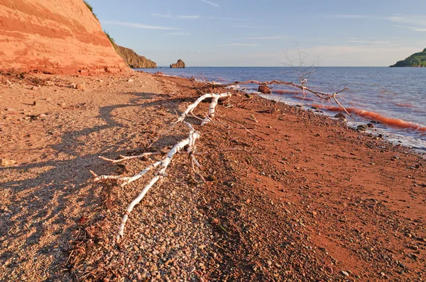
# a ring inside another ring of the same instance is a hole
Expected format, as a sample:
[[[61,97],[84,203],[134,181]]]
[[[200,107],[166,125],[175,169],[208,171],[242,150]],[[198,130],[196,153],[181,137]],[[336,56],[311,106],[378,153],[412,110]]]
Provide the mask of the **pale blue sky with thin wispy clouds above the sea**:
[[[426,47],[426,0],[87,0],[158,66],[389,66]],[[298,51],[297,51],[298,48]]]

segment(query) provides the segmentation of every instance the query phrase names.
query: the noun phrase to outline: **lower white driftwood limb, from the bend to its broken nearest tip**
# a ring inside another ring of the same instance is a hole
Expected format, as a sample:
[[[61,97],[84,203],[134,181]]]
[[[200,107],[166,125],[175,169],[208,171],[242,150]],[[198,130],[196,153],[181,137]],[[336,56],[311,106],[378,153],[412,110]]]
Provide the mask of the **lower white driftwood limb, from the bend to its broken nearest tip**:
[[[187,125],[187,127],[190,128],[190,135],[187,138],[185,138],[184,140],[178,142],[178,144],[176,144],[172,148],[172,150],[170,150],[168,152],[167,156],[165,156],[165,158],[162,161],[155,163],[155,164],[157,164],[157,163],[158,164],[155,165],[154,167],[160,165],[160,170],[158,171],[158,174],[156,176],[154,176],[153,179],[151,179],[151,181],[149,181],[149,183],[142,189],[141,193],[139,193],[139,195],[133,201],[131,201],[131,203],[127,207],[126,213],[124,213],[124,216],[121,220],[121,224],[120,224],[120,227],[119,227],[119,235],[117,236],[117,240],[119,240],[124,235],[124,226],[126,225],[126,221],[129,219],[129,215],[130,215],[131,211],[133,210],[135,205],[137,205],[143,199],[143,196],[145,196],[145,194],[155,184],[155,182],[157,182],[158,180],[162,179],[165,176],[165,170],[168,168],[168,165],[172,161],[173,156],[176,153],[180,152],[180,150],[182,150],[183,147],[185,147],[186,145],[190,146],[190,149],[188,149],[188,150],[192,150],[193,146],[195,146],[195,140],[197,140],[200,137],[200,134],[198,132],[196,132],[194,130],[194,128],[192,128],[192,125],[190,125],[189,123],[185,123],[185,125]],[[153,165],[151,165],[151,166],[153,166]],[[142,172],[143,171],[141,171],[141,174],[142,174]],[[136,175],[138,175],[138,174],[136,174]],[[133,176],[133,177],[135,177],[135,176]],[[139,176],[139,177],[141,177],[141,176]]]

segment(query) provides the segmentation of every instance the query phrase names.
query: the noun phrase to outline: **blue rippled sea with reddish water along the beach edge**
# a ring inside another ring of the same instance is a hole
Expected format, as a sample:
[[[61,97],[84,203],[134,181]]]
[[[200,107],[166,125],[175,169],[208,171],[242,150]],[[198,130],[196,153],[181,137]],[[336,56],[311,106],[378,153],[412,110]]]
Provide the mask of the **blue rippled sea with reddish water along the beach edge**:
[[[143,72],[162,72],[176,77],[194,77],[200,81],[225,84],[232,81],[293,81],[300,84],[297,69],[291,67],[187,67],[185,69],[135,69]],[[426,68],[398,67],[318,67],[307,75],[305,86],[328,94],[348,90],[337,95],[340,103],[351,113],[348,125],[374,123],[367,131],[381,134],[394,144],[426,152]],[[249,93],[257,91],[254,84],[239,85]],[[317,108],[320,114],[334,116],[342,108],[332,101],[324,101],[300,89],[273,84],[272,94],[263,95],[289,105]],[[346,113],[344,113],[346,114]]]

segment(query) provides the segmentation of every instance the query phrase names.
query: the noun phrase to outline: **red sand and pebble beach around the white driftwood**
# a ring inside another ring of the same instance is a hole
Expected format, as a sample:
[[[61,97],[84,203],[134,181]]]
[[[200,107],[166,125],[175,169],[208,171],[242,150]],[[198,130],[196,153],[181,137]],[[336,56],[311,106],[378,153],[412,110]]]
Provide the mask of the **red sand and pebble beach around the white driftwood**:
[[[339,120],[236,91],[232,107],[218,106],[217,122],[197,127],[207,183],[187,156],[176,157],[170,177],[136,206],[125,242],[113,244],[143,180],[92,186],[89,170],[137,172],[150,161],[119,166],[98,156],[141,152],[198,94],[188,79],[138,72],[40,77],[54,85],[1,88],[4,108],[16,110],[2,109],[0,159],[16,164],[0,169],[0,280],[425,275],[424,159]],[[85,91],[70,88],[83,81]],[[259,113],[266,110],[273,113]],[[186,134],[175,128],[153,150]],[[248,152],[225,151],[233,148]]]

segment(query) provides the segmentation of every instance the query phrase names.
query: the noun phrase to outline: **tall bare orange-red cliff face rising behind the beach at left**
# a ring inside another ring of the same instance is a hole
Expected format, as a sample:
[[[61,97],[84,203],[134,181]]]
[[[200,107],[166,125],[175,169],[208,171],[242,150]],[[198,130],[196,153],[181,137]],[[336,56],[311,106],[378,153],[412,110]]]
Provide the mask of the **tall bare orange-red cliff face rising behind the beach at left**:
[[[82,0],[0,0],[0,69],[88,74],[129,67]]]

